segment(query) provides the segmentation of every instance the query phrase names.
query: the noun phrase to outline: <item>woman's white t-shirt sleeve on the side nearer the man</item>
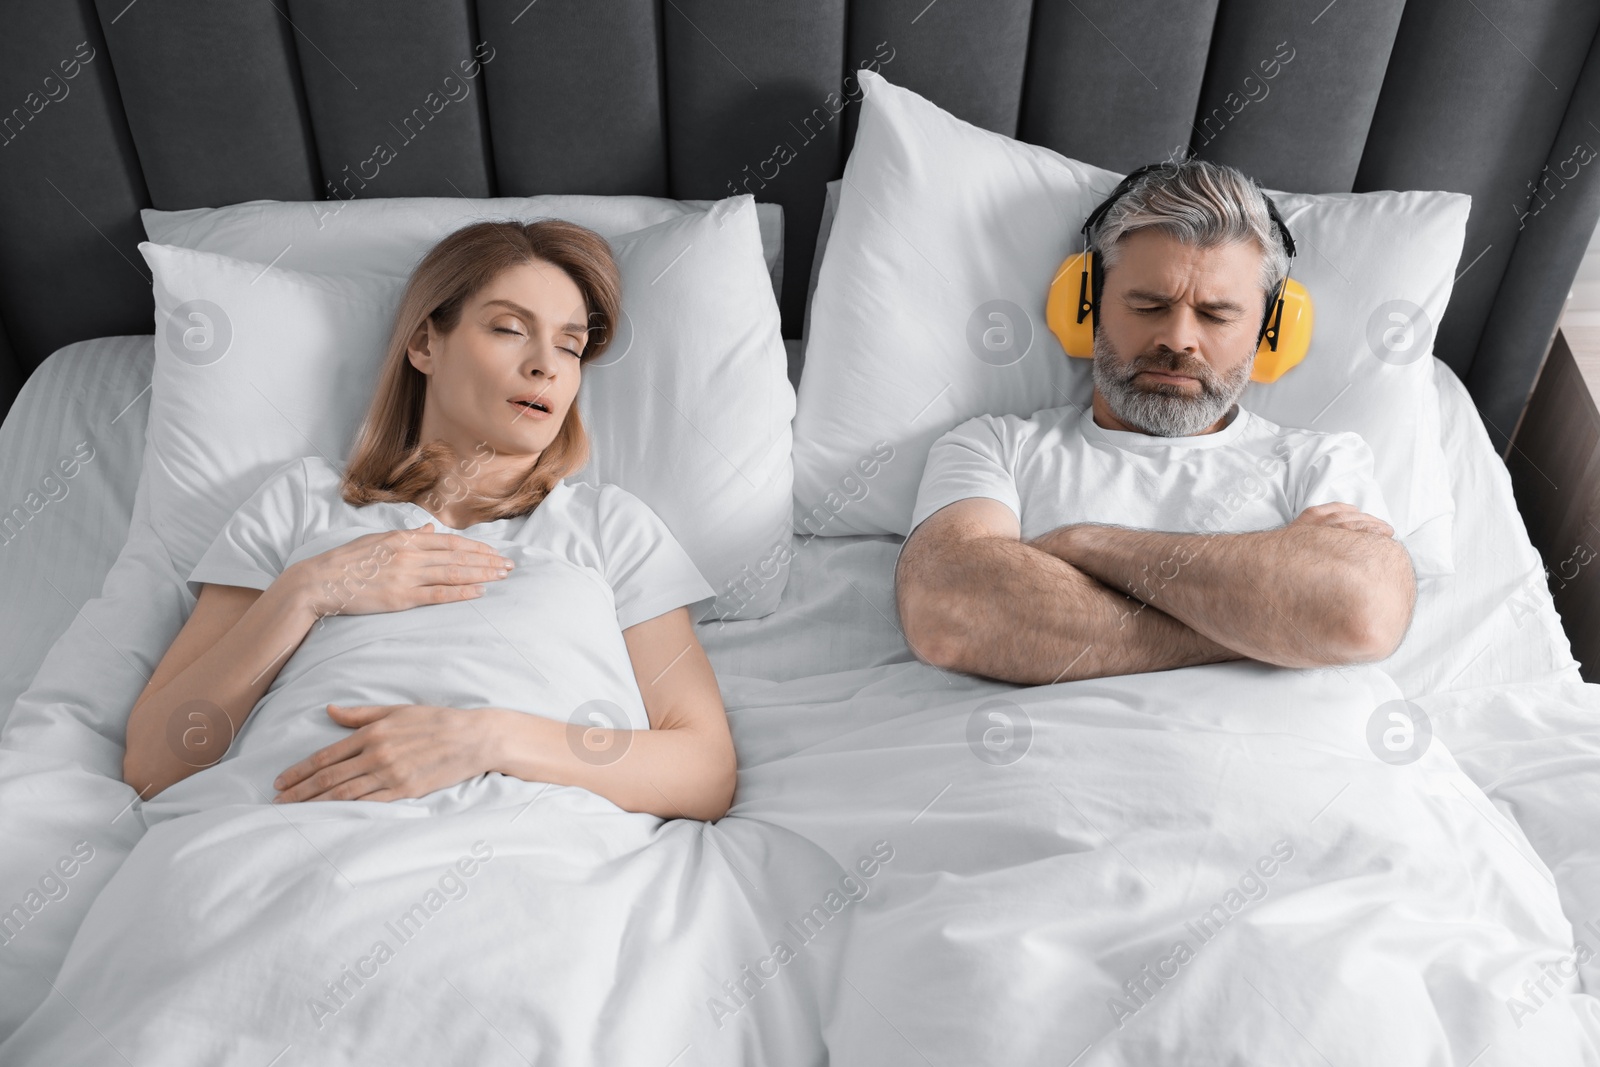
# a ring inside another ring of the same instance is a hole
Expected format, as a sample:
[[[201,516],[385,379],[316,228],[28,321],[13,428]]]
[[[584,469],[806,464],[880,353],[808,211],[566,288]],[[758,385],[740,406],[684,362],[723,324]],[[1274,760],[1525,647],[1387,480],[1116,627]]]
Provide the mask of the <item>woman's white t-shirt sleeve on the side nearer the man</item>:
[[[600,553],[616,600],[616,624],[637,625],[690,605],[698,621],[717,597],[661,517],[616,485],[600,486]]]

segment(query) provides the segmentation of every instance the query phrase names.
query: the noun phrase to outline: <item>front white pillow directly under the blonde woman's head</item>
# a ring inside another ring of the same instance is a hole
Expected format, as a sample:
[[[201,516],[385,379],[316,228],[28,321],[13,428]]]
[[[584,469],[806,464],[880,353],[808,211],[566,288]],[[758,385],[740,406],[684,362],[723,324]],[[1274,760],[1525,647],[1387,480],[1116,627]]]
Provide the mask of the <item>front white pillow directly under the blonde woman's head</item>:
[[[661,515],[718,592],[707,617],[768,614],[787,579],[773,547],[789,544],[794,390],[755,203],[731,197],[611,245],[624,322],[584,373],[592,453],[573,477],[621,485]],[[274,469],[346,461],[403,278],[139,251],[157,325],[141,488],[187,576]]]

